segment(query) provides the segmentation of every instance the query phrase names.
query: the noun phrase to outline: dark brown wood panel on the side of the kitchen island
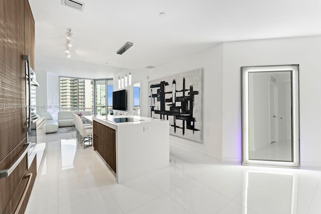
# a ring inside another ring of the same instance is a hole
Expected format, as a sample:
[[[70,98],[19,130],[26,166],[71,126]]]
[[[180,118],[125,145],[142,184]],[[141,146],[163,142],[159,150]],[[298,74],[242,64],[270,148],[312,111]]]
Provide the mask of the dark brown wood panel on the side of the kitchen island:
[[[116,132],[114,129],[93,121],[94,149],[116,172]],[[116,172],[117,173],[117,172]]]

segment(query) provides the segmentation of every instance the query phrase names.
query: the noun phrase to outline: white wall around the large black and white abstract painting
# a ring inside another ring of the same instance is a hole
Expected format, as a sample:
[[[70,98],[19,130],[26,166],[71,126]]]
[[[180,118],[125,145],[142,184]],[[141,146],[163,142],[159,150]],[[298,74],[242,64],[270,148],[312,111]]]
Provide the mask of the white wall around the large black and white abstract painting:
[[[222,62],[223,46],[216,45],[200,53],[159,66],[147,73],[149,80],[203,68],[203,142],[170,136],[172,144],[193,149],[215,159],[222,158]],[[141,91],[146,90],[141,89]],[[141,95],[147,100],[148,95]],[[147,106],[147,102],[142,106]]]

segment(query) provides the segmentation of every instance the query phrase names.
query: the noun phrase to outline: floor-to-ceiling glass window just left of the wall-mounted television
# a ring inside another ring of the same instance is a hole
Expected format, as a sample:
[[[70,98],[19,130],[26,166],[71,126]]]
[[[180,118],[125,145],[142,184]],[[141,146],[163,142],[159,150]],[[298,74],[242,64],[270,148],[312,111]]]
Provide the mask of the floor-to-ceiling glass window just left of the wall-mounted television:
[[[95,114],[106,115],[110,110],[112,110],[113,91],[114,87],[112,79],[95,80]]]

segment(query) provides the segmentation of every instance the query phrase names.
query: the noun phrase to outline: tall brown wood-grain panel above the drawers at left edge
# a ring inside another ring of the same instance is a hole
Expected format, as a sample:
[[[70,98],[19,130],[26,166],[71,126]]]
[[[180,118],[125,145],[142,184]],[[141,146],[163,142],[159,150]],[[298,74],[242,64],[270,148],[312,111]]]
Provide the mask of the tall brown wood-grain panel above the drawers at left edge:
[[[0,161],[26,138],[24,0],[2,0]]]

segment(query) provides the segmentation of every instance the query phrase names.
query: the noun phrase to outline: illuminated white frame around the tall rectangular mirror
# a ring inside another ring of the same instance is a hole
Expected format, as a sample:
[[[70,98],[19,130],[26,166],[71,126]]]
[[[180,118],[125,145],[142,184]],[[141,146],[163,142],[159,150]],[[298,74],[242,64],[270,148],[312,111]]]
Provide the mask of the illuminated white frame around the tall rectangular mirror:
[[[292,161],[257,160],[249,158],[249,73],[290,71],[292,77]],[[242,79],[242,165],[300,167],[299,128],[299,65],[241,67]]]

